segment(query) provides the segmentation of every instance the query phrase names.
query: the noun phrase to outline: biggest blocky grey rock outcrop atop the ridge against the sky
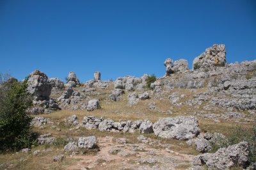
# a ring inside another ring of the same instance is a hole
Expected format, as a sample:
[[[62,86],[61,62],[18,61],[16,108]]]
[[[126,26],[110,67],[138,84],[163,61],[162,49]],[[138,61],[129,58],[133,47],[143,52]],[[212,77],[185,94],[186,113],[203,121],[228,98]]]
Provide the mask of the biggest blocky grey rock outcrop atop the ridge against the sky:
[[[193,69],[211,68],[212,66],[225,66],[226,50],[225,44],[214,44],[205,49],[205,52],[196,57],[193,61]]]

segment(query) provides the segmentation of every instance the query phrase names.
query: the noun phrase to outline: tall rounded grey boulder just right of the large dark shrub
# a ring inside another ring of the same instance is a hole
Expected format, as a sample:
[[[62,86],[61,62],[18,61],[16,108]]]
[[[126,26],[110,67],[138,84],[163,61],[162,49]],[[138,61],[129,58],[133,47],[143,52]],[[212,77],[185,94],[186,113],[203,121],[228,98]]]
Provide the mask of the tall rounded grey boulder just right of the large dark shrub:
[[[35,72],[29,74],[28,92],[31,93],[31,95],[48,99],[51,95],[51,89],[51,83],[48,81],[48,77],[45,73],[35,70]]]

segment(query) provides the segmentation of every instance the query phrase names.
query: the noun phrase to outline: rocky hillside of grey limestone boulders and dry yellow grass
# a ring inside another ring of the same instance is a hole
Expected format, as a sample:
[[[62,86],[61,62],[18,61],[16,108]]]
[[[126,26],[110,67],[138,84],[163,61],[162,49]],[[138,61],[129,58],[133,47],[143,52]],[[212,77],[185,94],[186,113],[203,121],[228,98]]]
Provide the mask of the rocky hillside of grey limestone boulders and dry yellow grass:
[[[150,88],[148,74],[113,82],[95,72],[80,82],[69,72],[63,82],[30,73],[28,112],[41,135],[33,148],[0,155],[0,169],[256,168],[251,143],[223,145],[236,127],[255,125],[256,60],[227,64],[221,44],[193,70],[185,59],[164,66]]]

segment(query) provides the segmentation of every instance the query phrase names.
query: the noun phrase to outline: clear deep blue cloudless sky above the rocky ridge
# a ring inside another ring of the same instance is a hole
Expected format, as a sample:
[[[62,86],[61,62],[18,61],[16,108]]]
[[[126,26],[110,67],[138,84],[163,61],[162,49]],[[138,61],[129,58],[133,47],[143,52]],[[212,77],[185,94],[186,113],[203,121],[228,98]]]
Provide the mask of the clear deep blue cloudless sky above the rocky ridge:
[[[193,59],[225,43],[227,61],[256,59],[256,1],[0,0],[0,72],[38,69],[80,81],[164,75],[164,59]]]

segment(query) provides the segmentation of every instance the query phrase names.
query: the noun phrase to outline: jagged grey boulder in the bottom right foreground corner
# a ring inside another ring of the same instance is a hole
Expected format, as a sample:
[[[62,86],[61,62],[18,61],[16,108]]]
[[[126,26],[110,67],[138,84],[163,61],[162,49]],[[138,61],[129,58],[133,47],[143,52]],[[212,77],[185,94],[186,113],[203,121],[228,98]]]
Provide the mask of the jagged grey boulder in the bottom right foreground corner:
[[[204,153],[195,157],[194,166],[204,166],[207,169],[230,169],[234,166],[245,167],[248,162],[248,143],[241,142],[220,148],[216,153]]]

